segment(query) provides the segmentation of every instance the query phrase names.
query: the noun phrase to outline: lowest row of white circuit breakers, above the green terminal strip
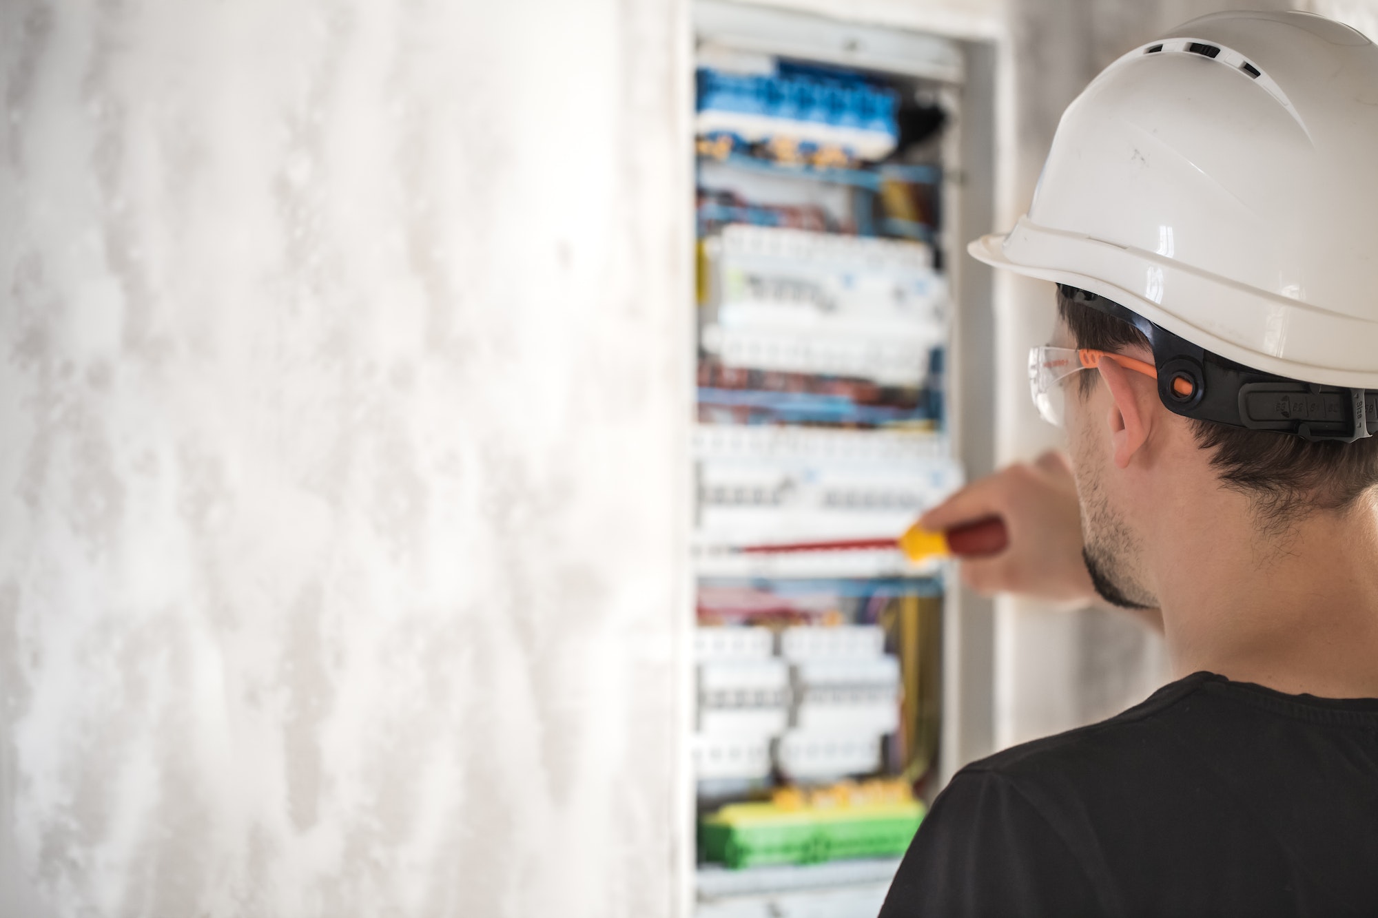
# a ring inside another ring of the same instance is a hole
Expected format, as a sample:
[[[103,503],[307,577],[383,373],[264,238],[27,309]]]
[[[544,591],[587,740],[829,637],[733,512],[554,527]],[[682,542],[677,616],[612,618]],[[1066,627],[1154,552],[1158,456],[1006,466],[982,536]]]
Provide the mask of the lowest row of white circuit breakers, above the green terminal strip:
[[[900,663],[876,626],[700,627],[700,782],[875,772],[898,728]]]

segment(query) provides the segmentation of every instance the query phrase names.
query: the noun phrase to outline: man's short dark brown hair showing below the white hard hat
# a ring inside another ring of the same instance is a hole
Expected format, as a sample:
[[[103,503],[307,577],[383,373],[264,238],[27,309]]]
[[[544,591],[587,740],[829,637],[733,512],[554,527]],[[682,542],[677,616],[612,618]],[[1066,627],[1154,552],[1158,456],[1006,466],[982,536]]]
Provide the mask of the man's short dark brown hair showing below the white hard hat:
[[[1127,321],[1076,302],[1061,287],[1057,313],[1078,347],[1120,350],[1148,347],[1148,339]],[[1080,374],[1083,394],[1100,374]],[[1378,437],[1355,442],[1310,442],[1269,430],[1244,430],[1191,420],[1196,445],[1213,451],[1211,466],[1226,488],[1254,500],[1262,521],[1286,527],[1308,510],[1344,510],[1378,484]]]

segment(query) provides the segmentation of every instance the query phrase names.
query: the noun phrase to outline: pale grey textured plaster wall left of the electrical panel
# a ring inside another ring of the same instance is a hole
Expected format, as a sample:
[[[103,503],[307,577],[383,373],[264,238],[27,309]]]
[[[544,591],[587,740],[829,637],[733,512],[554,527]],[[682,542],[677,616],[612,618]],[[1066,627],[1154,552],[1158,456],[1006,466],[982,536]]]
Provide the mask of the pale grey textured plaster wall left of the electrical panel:
[[[0,914],[671,914],[686,54],[0,4]]]

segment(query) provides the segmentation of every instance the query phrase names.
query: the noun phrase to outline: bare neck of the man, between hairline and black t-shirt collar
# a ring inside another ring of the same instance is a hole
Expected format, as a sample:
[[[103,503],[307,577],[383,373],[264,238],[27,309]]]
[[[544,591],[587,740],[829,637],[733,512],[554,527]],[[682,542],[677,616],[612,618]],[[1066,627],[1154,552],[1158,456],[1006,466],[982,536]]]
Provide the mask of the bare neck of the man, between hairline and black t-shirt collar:
[[[1178,507],[1195,518],[1158,540],[1152,568],[1177,675],[1378,697],[1378,504],[1316,511],[1269,536],[1242,500],[1222,492]]]

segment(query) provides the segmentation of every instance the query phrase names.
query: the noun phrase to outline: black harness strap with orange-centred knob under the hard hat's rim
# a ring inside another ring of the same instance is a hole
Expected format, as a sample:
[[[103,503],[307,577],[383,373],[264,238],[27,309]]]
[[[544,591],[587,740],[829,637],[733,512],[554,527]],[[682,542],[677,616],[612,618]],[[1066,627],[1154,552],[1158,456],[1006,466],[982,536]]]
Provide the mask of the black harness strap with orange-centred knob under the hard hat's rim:
[[[1104,296],[1060,287],[1068,299],[1144,332],[1158,367],[1158,397],[1174,414],[1309,441],[1353,442],[1378,433],[1378,390],[1259,372],[1193,345]]]

